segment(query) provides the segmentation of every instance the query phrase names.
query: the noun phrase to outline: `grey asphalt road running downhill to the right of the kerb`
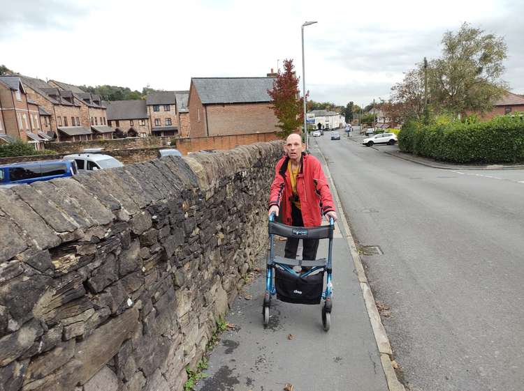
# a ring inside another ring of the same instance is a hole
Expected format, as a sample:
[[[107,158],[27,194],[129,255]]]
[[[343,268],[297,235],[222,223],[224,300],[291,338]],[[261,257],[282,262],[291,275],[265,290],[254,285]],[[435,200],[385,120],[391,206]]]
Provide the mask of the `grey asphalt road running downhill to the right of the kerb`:
[[[524,170],[435,169],[342,135],[310,146],[358,245],[382,253],[362,247],[405,385],[524,390]]]

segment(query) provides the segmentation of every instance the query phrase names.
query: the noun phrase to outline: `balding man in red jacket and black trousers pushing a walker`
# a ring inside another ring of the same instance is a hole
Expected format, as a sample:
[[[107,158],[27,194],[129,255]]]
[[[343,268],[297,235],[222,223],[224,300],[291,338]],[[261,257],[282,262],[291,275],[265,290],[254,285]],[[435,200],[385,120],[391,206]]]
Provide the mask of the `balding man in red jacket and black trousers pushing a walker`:
[[[303,153],[300,135],[293,133],[286,139],[285,155],[277,163],[275,179],[271,184],[269,212],[279,215],[282,222],[294,227],[316,227],[322,222],[321,215],[329,221],[337,220],[335,204],[326,176],[318,159]],[[318,239],[303,240],[303,259],[316,259]],[[284,256],[295,259],[298,239],[289,238]]]

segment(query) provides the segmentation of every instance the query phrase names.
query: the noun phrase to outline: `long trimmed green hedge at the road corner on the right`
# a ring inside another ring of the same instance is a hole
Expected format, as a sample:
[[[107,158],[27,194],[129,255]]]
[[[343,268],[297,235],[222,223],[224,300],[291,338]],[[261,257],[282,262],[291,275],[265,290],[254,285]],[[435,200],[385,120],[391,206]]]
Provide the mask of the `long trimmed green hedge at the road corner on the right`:
[[[524,117],[490,121],[405,123],[398,134],[400,151],[456,163],[524,162]]]

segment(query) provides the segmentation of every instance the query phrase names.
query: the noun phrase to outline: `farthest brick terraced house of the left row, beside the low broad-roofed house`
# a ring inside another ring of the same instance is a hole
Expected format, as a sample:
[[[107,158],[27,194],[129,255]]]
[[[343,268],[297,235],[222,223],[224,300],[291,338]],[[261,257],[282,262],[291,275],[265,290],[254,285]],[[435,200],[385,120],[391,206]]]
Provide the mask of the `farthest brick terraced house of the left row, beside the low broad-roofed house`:
[[[78,86],[57,80],[49,80],[48,84],[73,95],[75,104],[80,106],[80,123],[77,122],[76,126],[90,128],[94,139],[112,139],[115,130],[108,126],[107,110],[100,95],[82,91]]]

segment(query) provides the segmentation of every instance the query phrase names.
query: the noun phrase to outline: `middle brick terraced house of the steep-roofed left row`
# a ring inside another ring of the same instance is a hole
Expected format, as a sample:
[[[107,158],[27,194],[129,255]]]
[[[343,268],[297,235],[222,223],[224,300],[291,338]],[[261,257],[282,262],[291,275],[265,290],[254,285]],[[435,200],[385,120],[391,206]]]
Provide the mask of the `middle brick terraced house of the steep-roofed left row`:
[[[34,77],[20,75],[20,79],[29,98],[50,114],[50,132],[54,132],[58,141],[93,138],[89,125],[80,125],[80,102],[75,100],[71,91],[51,87]]]

